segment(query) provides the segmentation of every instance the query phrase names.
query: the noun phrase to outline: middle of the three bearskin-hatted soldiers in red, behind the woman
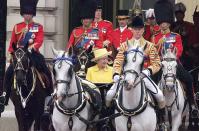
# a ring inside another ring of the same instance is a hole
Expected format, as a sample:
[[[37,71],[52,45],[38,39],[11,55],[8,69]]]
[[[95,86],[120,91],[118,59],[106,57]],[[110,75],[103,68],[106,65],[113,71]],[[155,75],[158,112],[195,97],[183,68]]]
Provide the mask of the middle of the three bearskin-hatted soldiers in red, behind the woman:
[[[102,48],[103,34],[99,31],[99,28],[94,28],[92,25],[97,3],[94,0],[89,0],[82,4],[80,11],[82,26],[73,29],[67,44],[67,49],[73,47],[87,50],[91,45],[94,48]]]

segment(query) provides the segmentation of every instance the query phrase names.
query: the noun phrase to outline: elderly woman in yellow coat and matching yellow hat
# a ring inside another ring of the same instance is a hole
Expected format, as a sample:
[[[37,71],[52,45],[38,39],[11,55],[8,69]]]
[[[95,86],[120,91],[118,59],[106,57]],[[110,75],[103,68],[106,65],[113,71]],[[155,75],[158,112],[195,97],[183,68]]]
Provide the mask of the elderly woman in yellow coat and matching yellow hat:
[[[88,68],[86,79],[92,83],[112,83],[113,68],[108,66],[108,55],[112,52],[108,52],[106,48],[96,49],[94,51],[95,61],[97,64]]]

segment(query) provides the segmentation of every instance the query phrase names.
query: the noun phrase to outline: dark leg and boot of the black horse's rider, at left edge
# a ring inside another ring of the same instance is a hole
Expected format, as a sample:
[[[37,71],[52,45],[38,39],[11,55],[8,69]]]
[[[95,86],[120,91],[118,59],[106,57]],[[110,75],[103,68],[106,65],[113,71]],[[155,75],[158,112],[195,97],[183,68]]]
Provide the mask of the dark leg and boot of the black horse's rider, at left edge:
[[[14,69],[12,64],[10,64],[5,72],[4,83],[3,83],[4,93],[0,96],[0,112],[3,112],[5,108],[4,106],[8,105],[11,93],[11,87],[13,84],[13,74],[14,74]]]

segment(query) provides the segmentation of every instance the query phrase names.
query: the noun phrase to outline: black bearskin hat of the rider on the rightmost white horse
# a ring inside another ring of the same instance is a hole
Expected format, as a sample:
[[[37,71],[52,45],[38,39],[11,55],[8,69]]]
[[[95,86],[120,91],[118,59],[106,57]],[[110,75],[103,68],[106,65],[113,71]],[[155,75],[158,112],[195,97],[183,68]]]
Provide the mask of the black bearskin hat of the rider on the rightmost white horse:
[[[158,0],[154,5],[155,17],[158,24],[162,22],[173,23],[173,5],[168,0]]]

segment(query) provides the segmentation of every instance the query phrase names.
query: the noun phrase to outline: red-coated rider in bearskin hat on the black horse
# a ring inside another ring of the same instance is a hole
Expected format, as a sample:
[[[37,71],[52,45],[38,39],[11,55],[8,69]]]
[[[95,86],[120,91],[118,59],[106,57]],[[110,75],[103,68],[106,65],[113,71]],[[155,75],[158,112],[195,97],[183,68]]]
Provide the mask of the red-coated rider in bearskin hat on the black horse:
[[[35,53],[32,53],[30,56],[33,66],[37,69],[37,71],[45,75],[45,78],[47,78],[49,81],[49,85],[46,86],[49,86],[47,88],[52,89],[51,73],[45,64],[43,55],[39,53],[39,49],[43,44],[43,37],[44,37],[43,26],[33,21],[33,17],[36,16],[37,3],[38,0],[28,0],[28,1],[20,0],[20,9],[21,9],[20,14],[24,18],[24,21],[14,26],[8,52],[12,56],[12,53],[14,51],[13,44],[16,44],[16,47],[24,47],[28,44],[28,50],[36,51]],[[11,92],[11,86],[13,83],[13,74],[14,74],[14,67],[13,64],[11,63],[5,73],[5,79],[4,79],[5,93],[1,97],[5,97],[6,100],[3,106],[8,104]]]

